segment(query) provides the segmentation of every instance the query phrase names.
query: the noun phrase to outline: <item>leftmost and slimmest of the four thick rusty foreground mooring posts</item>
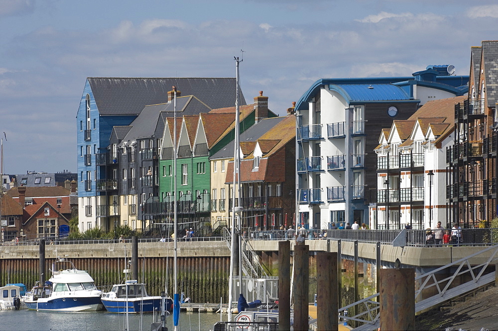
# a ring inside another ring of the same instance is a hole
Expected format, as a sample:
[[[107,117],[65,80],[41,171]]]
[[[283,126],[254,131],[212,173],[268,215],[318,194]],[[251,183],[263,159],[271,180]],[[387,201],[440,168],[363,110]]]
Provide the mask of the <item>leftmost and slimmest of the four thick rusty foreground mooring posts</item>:
[[[290,330],[290,241],[278,242],[278,330]]]

